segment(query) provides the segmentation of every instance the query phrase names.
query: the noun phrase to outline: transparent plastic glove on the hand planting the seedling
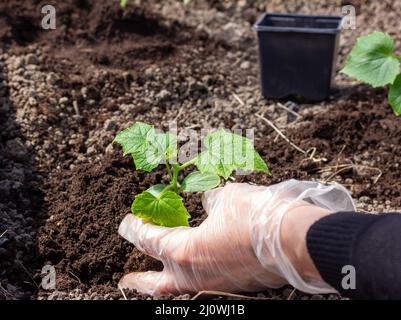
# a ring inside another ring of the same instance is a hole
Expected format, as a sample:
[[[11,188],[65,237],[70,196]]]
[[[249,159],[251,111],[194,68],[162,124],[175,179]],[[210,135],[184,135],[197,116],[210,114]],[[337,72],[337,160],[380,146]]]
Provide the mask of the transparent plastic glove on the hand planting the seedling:
[[[208,217],[196,228],[165,228],[127,215],[119,234],[161,260],[164,269],[130,273],[119,286],[154,296],[255,292],[288,283],[309,293],[335,292],[323,281],[302,279],[281,248],[281,220],[304,201],[333,212],[355,209],[340,185],[288,180],[270,187],[233,183],[206,192]]]

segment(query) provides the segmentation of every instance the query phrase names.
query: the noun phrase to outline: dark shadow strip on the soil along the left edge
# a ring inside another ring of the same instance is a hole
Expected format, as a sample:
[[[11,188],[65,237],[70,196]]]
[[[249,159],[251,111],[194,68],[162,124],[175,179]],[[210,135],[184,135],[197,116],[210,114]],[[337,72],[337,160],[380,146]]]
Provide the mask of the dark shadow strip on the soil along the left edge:
[[[43,194],[5,77],[0,69],[0,300],[29,299],[39,285],[33,274]]]

